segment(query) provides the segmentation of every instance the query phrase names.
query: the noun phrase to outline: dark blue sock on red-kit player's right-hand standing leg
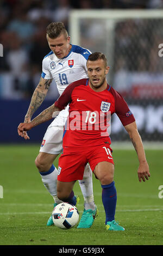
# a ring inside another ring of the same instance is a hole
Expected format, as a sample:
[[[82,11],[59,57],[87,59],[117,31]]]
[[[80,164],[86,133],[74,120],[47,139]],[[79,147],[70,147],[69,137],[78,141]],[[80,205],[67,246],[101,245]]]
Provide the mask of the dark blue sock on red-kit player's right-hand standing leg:
[[[105,209],[106,220],[105,224],[108,221],[115,220],[115,211],[117,203],[117,192],[115,187],[115,182],[112,181],[109,185],[101,185],[102,190],[102,202]]]

